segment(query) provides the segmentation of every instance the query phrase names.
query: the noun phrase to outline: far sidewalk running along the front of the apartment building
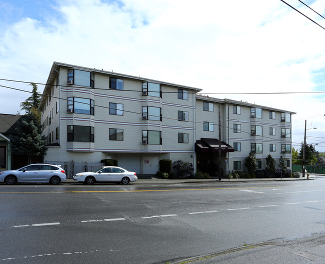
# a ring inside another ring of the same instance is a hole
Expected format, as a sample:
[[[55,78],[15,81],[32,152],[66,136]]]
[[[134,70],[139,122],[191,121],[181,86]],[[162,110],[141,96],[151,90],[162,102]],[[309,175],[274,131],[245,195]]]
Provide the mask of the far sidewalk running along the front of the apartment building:
[[[161,178],[141,178],[141,175],[139,175],[139,178],[135,182],[130,182],[130,184],[179,184],[179,183],[197,183],[197,182],[229,182],[229,181],[286,181],[286,180],[311,180],[315,177],[321,177],[321,175],[309,175],[309,178],[305,177],[299,177],[299,178],[222,178],[221,180],[218,180],[218,178],[211,178],[211,179],[161,179]],[[325,177],[325,176],[324,176]],[[62,183],[78,183],[78,181],[75,181],[71,178],[67,178],[65,182]]]

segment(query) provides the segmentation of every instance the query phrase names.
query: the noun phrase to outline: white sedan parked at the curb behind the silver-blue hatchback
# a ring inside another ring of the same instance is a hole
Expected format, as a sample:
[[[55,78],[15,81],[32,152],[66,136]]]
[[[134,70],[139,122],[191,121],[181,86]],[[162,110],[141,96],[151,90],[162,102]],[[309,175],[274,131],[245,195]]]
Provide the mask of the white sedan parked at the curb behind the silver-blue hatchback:
[[[103,166],[93,171],[76,173],[73,179],[85,184],[104,181],[127,184],[130,181],[137,180],[137,176],[135,172],[127,171],[121,167]]]

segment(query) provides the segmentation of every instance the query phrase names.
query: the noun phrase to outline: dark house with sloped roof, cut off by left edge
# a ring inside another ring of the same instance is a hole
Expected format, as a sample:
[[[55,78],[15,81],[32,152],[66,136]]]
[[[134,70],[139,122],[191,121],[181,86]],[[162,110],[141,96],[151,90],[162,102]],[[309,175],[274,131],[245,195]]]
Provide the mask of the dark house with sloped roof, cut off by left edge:
[[[21,115],[0,113],[0,171],[12,168],[10,136],[16,135]]]

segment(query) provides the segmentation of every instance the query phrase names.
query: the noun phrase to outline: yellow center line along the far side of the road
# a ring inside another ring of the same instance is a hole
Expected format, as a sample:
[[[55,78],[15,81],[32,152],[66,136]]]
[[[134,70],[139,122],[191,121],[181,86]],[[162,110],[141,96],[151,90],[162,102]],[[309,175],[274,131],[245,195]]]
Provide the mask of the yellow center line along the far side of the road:
[[[190,189],[162,189],[162,190],[70,190],[70,191],[11,191],[2,193],[94,193],[94,192],[145,192],[145,191],[180,191],[180,190],[216,190],[216,189],[242,189],[242,188],[265,188],[265,187],[280,187],[282,185],[274,186],[254,186],[254,187],[227,187],[227,188],[190,188]]]

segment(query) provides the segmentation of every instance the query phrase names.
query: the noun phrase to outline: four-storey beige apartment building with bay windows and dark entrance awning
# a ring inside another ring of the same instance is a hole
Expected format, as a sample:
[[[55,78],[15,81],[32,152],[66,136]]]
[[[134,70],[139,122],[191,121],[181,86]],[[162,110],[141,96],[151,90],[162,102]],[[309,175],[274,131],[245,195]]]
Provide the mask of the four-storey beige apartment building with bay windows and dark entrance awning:
[[[244,169],[254,152],[282,155],[291,167],[293,112],[196,94],[199,88],[53,62],[40,100],[46,162],[117,159],[154,174],[160,159],[216,171],[218,108],[224,173]],[[227,161],[227,162],[226,162]],[[278,162],[278,160],[277,160]]]

